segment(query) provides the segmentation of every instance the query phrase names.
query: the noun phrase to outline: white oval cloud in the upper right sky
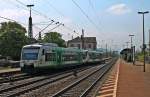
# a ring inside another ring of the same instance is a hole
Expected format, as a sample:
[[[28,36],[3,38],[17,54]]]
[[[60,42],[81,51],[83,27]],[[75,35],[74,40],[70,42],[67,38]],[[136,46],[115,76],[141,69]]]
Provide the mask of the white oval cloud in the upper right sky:
[[[115,15],[123,15],[131,12],[131,9],[129,9],[126,4],[121,3],[121,4],[112,5],[107,9],[107,12]]]

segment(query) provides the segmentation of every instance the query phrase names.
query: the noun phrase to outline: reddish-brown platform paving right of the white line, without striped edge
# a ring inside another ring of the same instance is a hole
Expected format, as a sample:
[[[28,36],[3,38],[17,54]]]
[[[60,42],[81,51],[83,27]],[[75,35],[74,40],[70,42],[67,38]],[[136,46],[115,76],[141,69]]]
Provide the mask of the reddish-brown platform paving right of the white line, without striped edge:
[[[142,63],[133,65],[121,60],[119,71],[117,97],[150,97],[149,65],[143,72]]]

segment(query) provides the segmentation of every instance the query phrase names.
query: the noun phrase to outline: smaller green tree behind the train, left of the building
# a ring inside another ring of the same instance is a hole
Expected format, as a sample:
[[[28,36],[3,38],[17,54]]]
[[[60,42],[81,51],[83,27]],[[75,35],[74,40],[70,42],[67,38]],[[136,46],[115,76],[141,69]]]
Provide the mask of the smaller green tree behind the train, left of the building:
[[[43,42],[56,43],[60,47],[66,47],[65,40],[62,39],[62,36],[58,32],[49,32],[44,36]]]

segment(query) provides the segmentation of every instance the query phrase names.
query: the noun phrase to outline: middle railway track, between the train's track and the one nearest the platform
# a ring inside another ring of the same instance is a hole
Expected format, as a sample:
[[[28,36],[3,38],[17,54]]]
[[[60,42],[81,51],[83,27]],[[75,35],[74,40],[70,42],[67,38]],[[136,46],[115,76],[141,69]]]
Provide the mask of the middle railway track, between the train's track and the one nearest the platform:
[[[90,67],[84,67],[79,69],[78,72],[84,71],[88,68]],[[0,97],[15,97],[72,75],[72,70],[70,70],[50,76],[35,77],[33,79],[31,78],[30,80],[15,82],[13,85],[0,86]]]

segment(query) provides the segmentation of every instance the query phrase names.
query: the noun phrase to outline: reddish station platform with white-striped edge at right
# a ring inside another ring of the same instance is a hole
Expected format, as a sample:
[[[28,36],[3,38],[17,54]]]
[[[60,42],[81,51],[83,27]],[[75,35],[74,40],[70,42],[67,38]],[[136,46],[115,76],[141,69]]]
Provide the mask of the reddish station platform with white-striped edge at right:
[[[133,65],[119,59],[96,97],[150,97],[149,90],[150,64],[143,72],[141,62]]]

